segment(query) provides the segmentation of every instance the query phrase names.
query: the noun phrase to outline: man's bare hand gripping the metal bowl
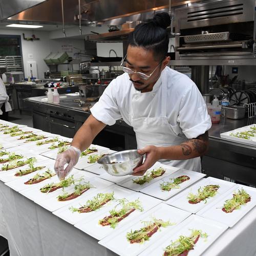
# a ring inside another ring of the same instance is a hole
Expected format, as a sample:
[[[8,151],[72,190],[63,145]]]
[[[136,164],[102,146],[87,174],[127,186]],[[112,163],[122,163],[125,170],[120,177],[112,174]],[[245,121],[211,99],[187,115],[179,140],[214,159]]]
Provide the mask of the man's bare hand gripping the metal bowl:
[[[157,146],[145,146],[141,150],[138,150],[138,153],[143,155],[146,154],[146,159],[142,165],[139,167],[136,167],[133,170],[133,175],[135,176],[142,176],[147,169],[152,167],[160,158],[160,153],[159,153],[159,147]]]

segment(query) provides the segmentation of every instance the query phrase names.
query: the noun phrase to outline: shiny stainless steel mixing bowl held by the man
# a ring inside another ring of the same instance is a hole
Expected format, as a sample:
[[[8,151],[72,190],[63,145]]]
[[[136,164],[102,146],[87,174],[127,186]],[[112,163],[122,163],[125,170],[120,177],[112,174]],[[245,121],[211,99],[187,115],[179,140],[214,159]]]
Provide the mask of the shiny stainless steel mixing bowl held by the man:
[[[125,176],[143,162],[143,155],[138,150],[125,150],[104,156],[98,160],[104,170],[113,176]]]

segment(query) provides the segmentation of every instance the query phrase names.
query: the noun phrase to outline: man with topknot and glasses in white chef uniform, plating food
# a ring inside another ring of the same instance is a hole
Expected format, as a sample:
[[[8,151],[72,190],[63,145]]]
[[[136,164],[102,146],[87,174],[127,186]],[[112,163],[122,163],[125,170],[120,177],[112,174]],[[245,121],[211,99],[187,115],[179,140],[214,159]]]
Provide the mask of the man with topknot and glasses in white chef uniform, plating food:
[[[201,172],[200,156],[207,151],[211,121],[196,84],[167,67],[169,25],[169,15],[158,13],[130,33],[126,65],[121,63],[124,74],[109,84],[71,146],[57,156],[54,168],[60,179],[96,135],[120,118],[133,127],[138,153],[146,154],[134,175],[143,175],[156,161]]]

